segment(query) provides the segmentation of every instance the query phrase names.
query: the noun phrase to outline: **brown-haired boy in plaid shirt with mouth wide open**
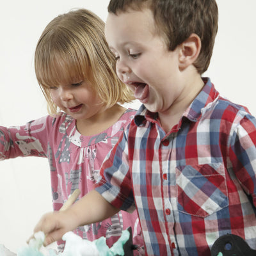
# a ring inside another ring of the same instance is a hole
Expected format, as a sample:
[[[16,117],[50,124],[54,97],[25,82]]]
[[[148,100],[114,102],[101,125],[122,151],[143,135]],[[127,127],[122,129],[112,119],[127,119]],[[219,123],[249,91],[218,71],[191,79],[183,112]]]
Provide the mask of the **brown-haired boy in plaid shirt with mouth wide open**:
[[[35,228],[50,243],[120,209],[138,211],[147,255],[211,255],[224,234],[256,248],[256,120],[209,78],[214,0],[111,0],[116,72],[143,105],[97,188]]]

